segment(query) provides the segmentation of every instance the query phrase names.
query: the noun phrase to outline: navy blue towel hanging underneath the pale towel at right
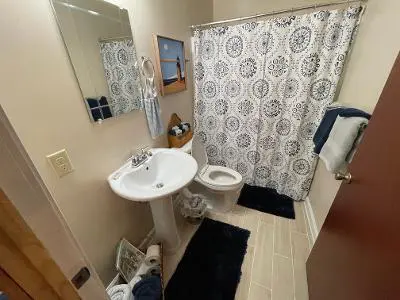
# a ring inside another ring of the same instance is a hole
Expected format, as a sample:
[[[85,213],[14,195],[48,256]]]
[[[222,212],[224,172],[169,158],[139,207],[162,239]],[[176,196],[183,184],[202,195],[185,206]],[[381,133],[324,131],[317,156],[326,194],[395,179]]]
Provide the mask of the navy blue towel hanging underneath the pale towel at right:
[[[314,152],[316,154],[319,154],[321,152],[321,149],[329,137],[329,133],[332,130],[333,124],[335,123],[337,116],[345,118],[362,117],[368,120],[371,118],[371,115],[369,113],[366,113],[365,111],[357,108],[344,106],[335,106],[328,108],[313,138],[315,145]]]

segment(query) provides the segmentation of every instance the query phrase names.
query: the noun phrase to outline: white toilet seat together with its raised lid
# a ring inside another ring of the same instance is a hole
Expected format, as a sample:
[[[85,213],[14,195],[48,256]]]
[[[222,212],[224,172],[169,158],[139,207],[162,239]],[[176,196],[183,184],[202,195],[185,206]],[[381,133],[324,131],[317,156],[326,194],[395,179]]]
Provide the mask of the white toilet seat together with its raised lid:
[[[229,191],[240,188],[243,185],[243,178],[240,173],[227,167],[208,164],[206,150],[196,136],[192,141],[192,156],[199,166],[195,180],[209,189]]]

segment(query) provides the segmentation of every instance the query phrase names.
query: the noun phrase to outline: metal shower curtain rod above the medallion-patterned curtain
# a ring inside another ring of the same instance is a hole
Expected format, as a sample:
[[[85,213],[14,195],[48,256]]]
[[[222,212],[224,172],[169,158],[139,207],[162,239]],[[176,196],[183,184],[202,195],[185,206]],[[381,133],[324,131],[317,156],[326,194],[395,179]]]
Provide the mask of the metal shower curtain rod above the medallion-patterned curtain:
[[[257,18],[262,18],[262,17],[268,17],[268,16],[273,16],[273,15],[278,15],[286,12],[297,12],[297,11],[302,11],[306,9],[317,9],[319,7],[326,7],[326,6],[332,6],[332,5],[340,5],[340,4],[350,4],[354,2],[367,2],[368,0],[346,0],[346,1],[336,1],[336,2],[329,2],[329,3],[319,3],[319,4],[314,4],[314,5],[307,5],[307,6],[301,6],[301,7],[294,7],[291,9],[282,9],[282,10],[276,10],[276,11],[271,11],[268,13],[263,13],[263,14],[257,14],[253,16],[248,16],[248,17],[241,17],[241,18],[235,18],[235,19],[229,19],[229,20],[224,20],[224,21],[217,21],[217,22],[210,22],[210,23],[204,23],[204,24],[199,24],[199,25],[192,25],[190,26],[191,29],[196,29],[199,27],[207,27],[207,26],[214,26],[214,25],[220,25],[220,24],[225,24],[225,23],[232,23],[232,22],[238,22],[238,21],[245,21],[245,20],[251,20],[251,19],[257,19]]]

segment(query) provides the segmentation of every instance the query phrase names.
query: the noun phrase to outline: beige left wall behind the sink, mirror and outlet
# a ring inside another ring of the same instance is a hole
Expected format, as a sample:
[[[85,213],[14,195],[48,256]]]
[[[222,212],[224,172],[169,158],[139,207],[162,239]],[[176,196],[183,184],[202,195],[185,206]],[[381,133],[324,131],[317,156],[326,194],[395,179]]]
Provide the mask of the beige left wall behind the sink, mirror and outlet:
[[[151,34],[184,39],[188,26],[212,19],[212,2],[125,1],[138,55],[153,57]],[[151,140],[143,112],[102,125],[90,122],[47,0],[1,2],[0,103],[55,198],[72,232],[103,282],[114,275],[115,245],[121,237],[138,244],[152,227],[148,205],[115,196],[106,177],[132,149],[165,145]],[[5,42],[6,41],[6,42]],[[192,118],[192,90],[160,100],[166,124],[172,112]],[[66,148],[75,172],[58,178],[45,156]]]

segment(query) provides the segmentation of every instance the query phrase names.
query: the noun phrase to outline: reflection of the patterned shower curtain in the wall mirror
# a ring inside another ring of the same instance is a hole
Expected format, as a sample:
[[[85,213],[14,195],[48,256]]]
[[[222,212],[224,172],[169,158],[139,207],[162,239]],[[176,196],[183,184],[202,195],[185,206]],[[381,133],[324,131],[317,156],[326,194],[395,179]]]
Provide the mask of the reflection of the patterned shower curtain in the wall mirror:
[[[141,84],[132,39],[100,42],[114,116],[141,109]]]

